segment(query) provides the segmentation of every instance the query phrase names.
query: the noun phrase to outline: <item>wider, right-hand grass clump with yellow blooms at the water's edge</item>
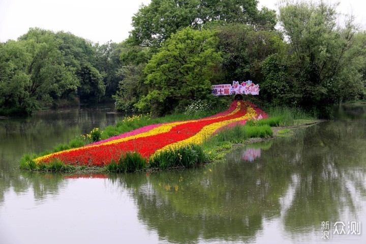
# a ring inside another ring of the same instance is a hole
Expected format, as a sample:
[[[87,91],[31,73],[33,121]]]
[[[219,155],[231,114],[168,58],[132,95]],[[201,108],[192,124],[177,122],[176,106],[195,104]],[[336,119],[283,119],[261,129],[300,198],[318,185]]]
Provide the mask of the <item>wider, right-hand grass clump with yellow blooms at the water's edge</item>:
[[[174,167],[192,168],[209,161],[209,153],[201,145],[189,144],[169,148],[149,159],[150,168],[169,169]]]

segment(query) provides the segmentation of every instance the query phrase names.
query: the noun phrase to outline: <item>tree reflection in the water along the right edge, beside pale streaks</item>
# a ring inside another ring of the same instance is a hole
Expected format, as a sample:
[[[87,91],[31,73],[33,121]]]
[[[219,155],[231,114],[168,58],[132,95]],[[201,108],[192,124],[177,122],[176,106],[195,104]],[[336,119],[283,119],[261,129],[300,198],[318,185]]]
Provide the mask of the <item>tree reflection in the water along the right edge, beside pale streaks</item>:
[[[322,221],[337,221],[345,212],[357,219],[362,208],[356,194],[365,199],[366,132],[364,121],[338,121],[308,128],[301,138],[289,139],[289,148],[299,150],[293,159],[298,176],[293,200],[284,221],[288,231],[320,229]],[[303,141],[294,146],[295,141]],[[345,220],[346,221],[346,220]],[[347,220],[348,221],[348,220]]]

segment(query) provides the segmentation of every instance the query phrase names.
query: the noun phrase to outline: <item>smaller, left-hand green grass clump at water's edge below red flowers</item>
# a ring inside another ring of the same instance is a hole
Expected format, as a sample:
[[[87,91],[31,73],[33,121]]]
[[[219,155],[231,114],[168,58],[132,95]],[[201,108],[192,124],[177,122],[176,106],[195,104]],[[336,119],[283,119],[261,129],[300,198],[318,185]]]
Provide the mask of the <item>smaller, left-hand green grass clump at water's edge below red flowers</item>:
[[[146,167],[146,159],[139,153],[130,152],[122,154],[118,159],[118,162],[112,160],[112,162],[105,166],[107,172],[135,172],[143,170]]]

